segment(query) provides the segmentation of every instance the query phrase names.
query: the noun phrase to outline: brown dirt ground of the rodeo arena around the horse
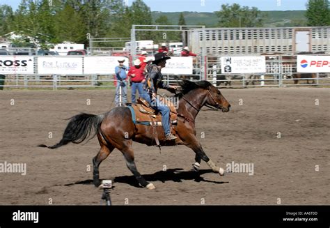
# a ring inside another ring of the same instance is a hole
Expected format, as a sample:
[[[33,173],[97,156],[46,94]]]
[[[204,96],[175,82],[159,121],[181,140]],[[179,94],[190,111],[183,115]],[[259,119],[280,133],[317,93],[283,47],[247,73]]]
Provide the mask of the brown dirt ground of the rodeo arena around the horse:
[[[222,92],[232,109],[201,111],[197,135],[218,165],[252,163],[253,175],[221,177],[202,162],[198,178],[189,171],[194,152],[187,147],[163,147],[159,153],[135,143],[136,165],[157,189],[139,188],[123,155],[113,151],[100,166],[100,178],[114,180],[114,205],[330,204],[330,89]],[[0,162],[27,166],[25,176],[0,173],[0,204],[99,205],[102,190],[91,183],[89,170],[99,150],[97,139],[56,150],[36,145],[58,142],[70,116],[111,109],[113,96],[113,90],[0,91]]]

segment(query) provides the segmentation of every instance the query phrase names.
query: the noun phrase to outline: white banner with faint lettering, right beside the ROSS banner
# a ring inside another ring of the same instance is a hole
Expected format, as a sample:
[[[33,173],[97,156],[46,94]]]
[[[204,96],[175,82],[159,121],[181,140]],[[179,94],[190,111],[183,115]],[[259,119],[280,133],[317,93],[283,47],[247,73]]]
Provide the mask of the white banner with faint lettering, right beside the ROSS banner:
[[[38,57],[40,75],[82,75],[83,57]]]

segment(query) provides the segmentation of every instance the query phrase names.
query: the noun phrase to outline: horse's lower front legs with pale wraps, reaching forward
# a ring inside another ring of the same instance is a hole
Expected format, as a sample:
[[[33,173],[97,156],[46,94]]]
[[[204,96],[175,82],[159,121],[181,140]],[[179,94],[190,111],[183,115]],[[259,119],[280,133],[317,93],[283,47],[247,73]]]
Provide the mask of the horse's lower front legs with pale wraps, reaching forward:
[[[223,176],[225,174],[225,170],[221,167],[218,167],[217,165],[210,160],[210,158],[207,157],[206,153],[203,151],[202,145],[197,141],[196,138],[191,139],[190,143],[187,144],[189,148],[191,148],[195,153],[195,164],[193,164],[194,171],[199,170],[201,160],[205,161],[207,165],[210,166],[210,168],[213,170],[213,172],[220,174],[220,176]]]

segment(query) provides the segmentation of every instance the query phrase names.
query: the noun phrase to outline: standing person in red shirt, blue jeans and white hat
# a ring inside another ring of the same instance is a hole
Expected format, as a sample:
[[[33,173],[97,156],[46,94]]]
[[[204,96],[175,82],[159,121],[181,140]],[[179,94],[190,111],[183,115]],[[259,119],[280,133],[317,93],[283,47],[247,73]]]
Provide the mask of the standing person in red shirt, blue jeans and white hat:
[[[143,75],[143,69],[141,67],[140,59],[136,59],[134,61],[134,66],[129,68],[128,77],[132,82],[132,103],[135,103],[135,93],[136,89],[139,91],[139,95],[144,93],[143,84],[146,82],[145,76]]]

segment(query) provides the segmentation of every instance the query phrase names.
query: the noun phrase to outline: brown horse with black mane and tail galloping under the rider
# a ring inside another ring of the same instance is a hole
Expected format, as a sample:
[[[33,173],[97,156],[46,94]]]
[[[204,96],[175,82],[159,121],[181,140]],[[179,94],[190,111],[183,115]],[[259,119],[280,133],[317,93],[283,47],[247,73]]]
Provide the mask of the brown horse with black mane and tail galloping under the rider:
[[[179,100],[178,106],[178,125],[173,126],[178,139],[175,142],[166,142],[164,130],[162,126],[157,126],[159,143],[162,146],[185,145],[191,148],[195,153],[196,163],[193,170],[198,172],[201,160],[207,162],[213,172],[220,175],[224,174],[224,170],[207,157],[201,144],[196,138],[195,119],[198,112],[204,105],[210,105],[221,109],[222,112],[228,112],[230,104],[221,94],[221,92],[210,82],[190,82],[181,83],[181,92],[176,96]],[[217,121],[217,119],[214,119]],[[54,146],[39,145],[56,149],[59,146],[68,144],[69,142],[79,144],[95,130],[95,135],[99,140],[101,149],[93,158],[93,183],[95,186],[100,185],[99,166],[100,163],[108,157],[113,149],[121,151],[125,157],[128,169],[134,174],[139,184],[148,189],[154,189],[152,183],[148,183],[136,169],[134,162],[134,152],[132,142],[140,142],[148,146],[155,145],[155,139],[152,134],[152,127],[134,124],[132,114],[128,107],[116,107],[110,112],[101,115],[94,114],[78,114],[73,116],[65,128],[63,138]],[[94,136],[95,136],[94,135]],[[94,137],[93,136],[93,137]]]

